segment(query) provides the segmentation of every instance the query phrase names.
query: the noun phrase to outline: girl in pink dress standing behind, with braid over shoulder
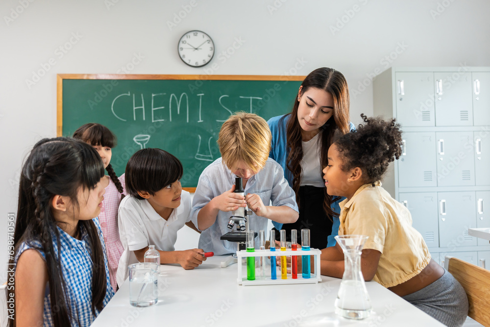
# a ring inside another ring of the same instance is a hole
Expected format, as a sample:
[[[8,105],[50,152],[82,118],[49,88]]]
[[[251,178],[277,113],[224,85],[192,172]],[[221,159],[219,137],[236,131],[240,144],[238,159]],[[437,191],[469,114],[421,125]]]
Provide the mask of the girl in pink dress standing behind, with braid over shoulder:
[[[104,163],[108,176],[104,176],[102,185],[105,187],[104,201],[98,219],[102,226],[104,242],[109,258],[109,275],[112,288],[116,291],[116,273],[119,259],[124,252],[123,244],[119,235],[118,208],[119,203],[126,195],[124,174],[119,178],[111,166],[112,148],[116,147],[116,136],[106,126],[89,123],[80,126],[74,133],[73,138],[81,140],[94,147]]]

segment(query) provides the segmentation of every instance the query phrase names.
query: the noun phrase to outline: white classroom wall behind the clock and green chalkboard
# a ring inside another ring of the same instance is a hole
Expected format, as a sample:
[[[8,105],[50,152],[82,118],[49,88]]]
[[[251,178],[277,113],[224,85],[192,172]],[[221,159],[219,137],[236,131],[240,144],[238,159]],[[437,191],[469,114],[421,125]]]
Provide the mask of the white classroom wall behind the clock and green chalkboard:
[[[199,29],[216,45],[213,74],[338,69],[349,83],[351,117],[358,123],[361,112],[373,112],[367,75],[390,66],[490,66],[488,0],[282,1],[2,0],[0,230],[6,230],[7,213],[17,210],[26,153],[56,134],[56,74],[117,73],[135,53],[144,58],[132,74],[206,74],[207,66],[188,67],[176,51],[182,34]],[[184,16],[184,7],[190,12],[171,30],[167,21]],[[336,25],[339,30],[332,30]],[[230,48],[236,39],[243,44]],[[71,49],[63,53],[59,47],[67,42]],[[220,55],[226,50],[234,53]],[[28,85],[43,65],[49,70]],[[359,87],[363,80],[365,89]],[[7,261],[6,239],[1,233],[0,263]]]

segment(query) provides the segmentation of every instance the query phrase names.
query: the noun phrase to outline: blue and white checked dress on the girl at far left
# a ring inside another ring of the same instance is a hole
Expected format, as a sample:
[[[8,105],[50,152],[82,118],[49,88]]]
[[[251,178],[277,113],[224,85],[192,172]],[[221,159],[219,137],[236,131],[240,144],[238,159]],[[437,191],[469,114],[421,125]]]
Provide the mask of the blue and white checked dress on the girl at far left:
[[[100,228],[98,218],[93,219],[98,229],[98,235],[100,243],[104,250],[104,262],[105,262],[105,274],[107,277],[107,289],[105,298],[103,301],[104,306],[107,305],[109,300],[114,296],[114,290],[112,289],[109,270],[107,268],[107,254],[105,250],[104,238],[102,236],[102,229]],[[91,252],[92,249],[89,246],[88,234],[84,228],[82,228],[81,240],[77,240],[61,228],[58,228],[60,234],[60,249],[61,249],[61,267],[63,270],[63,277],[68,288],[68,297],[72,308],[72,326],[84,327],[90,326],[96,318],[92,314],[92,277],[93,266]],[[58,245],[56,243],[56,236],[54,231],[51,232],[54,255],[58,257]],[[19,246],[19,250],[15,256],[15,263],[19,259],[22,252],[28,249],[33,249],[36,246],[40,247],[41,244],[38,240],[32,240],[29,242],[23,242]],[[39,251],[43,258],[46,260],[46,254]],[[44,326],[53,326],[51,317],[51,310],[56,309],[56,305],[51,305],[49,299],[49,285],[46,286],[46,293],[44,296]],[[98,314],[98,311],[97,311]]]

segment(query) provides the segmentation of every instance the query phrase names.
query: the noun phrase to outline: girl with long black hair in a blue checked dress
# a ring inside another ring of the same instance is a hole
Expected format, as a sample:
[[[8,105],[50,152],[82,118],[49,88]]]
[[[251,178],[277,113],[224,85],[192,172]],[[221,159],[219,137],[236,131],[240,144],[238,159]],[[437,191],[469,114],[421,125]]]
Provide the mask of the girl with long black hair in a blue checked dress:
[[[90,326],[114,295],[96,218],[103,176],[97,151],[73,139],[43,139],[27,157],[10,260],[10,326]]]

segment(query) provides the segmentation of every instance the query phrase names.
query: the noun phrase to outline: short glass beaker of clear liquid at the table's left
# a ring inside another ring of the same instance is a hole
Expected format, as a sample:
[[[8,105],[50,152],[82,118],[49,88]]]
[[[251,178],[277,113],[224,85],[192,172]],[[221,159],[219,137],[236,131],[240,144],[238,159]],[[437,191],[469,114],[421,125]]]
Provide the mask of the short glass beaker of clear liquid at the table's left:
[[[129,303],[150,306],[158,302],[158,265],[140,262],[129,268]]]

